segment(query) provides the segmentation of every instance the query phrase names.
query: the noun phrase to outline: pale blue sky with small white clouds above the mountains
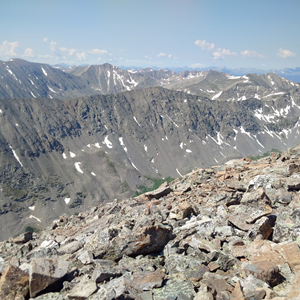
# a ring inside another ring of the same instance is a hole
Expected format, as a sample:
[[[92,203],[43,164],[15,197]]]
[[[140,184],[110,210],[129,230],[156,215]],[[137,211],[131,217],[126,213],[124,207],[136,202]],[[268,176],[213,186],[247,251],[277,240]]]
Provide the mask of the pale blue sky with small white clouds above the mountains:
[[[0,60],[295,68],[299,12],[299,0],[0,0]]]

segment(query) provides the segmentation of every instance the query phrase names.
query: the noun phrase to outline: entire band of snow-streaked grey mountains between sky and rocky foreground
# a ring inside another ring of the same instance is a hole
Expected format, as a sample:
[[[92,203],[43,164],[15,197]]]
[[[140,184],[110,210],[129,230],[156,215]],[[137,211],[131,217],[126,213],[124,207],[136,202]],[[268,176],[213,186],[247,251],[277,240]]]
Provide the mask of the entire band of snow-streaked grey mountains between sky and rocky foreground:
[[[299,117],[299,84],[274,73],[1,61],[0,240],[198,168],[295,147]]]

